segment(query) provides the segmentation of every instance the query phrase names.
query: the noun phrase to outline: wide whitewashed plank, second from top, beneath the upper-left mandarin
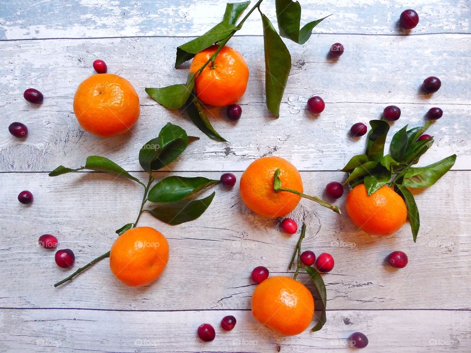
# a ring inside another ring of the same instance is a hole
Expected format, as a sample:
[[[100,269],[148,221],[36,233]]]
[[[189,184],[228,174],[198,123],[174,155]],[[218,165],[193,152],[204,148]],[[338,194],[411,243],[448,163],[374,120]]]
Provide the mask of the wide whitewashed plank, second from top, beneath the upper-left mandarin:
[[[325,54],[337,39],[346,51],[333,63]],[[444,116],[430,129],[437,143],[421,163],[457,153],[454,168],[469,169],[471,50],[465,49],[471,46],[470,36],[322,35],[303,47],[291,45],[294,64],[278,120],[270,117],[264,104],[262,38],[234,38],[231,44],[244,54],[251,70],[241,100],[243,116],[234,124],[227,121],[224,108],[209,110],[211,122],[229,144],[210,140],[178,111],[165,109],[144,92],[147,86],[185,80],[186,69],[173,68],[177,44],[168,38],[0,43],[0,75],[4,77],[0,82],[0,129],[5,131],[14,121],[29,128],[25,141],[9,135],[0,141],[0,171],[51,171],[59,164],[78,166],[92,154],[105,155],[127,170],[138,171],[138,150],[168,121],[202,137],[171,166],[174,170],[241,171],[253,159],[273,152],[301,170],[337,170],[353,154],[364,151],[365,137],[350,138],[350,126],[378,119],[389,104],[402,108],[393,131],[405,124],[423,124],[426,111],[441,106]],[[125,136],[94,137],[81,129],[73,113],[76,87],[92,74],[91,63],[99,57],[106,60],[109,72],[129,79],[141,99],[141,118]],[[443,86],[432,97],[425,97],[419,94],[419,85],[430,75],[442,77]],[[45,95],[41,106],[23,99],[29,86]],[[306,110],[306,101],[313,95],[327,103],[318,117]]]

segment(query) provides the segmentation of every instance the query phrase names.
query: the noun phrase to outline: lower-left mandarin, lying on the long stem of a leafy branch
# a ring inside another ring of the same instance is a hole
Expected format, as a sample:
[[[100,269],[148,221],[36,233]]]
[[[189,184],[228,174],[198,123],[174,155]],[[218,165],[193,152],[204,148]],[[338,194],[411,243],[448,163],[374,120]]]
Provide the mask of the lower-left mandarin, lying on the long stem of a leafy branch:
[[[168,242],[156,229],[135,227],[121,234],[109,254],[111,272],[129,286],[143,286],[160,276],[168,262]]]

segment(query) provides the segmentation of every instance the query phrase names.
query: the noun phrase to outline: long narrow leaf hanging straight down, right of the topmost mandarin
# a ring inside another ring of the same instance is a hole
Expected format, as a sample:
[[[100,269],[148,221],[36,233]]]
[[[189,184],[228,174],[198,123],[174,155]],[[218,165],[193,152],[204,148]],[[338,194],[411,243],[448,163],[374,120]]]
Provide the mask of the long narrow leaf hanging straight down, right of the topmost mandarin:
[[[259,9],[260,11],[260,9]],[[291,55],[270,20],[260,12],[265,50],[265,96],[268,110],[278,118],[291,70]]]

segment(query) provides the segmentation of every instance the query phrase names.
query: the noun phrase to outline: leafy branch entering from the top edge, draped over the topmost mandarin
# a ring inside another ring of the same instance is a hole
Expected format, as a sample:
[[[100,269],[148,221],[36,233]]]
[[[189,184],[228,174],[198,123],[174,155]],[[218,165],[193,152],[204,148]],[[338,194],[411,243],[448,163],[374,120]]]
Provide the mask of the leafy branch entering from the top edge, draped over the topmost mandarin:
[[[301,5],[298,1],[276,0],[276,14],[278,29],[276,31],[270,20],[262,13],[258,0],[247,14],[236,24],[239,17],[247,9],[250,1],[228,3],[223,19],[220,23],[209,29],[205,34],[180,45],[177,48],[175,68],[185,61],[192,59],[197,53],[212,45],[218,45],[217,50],[196,71],[189,73],[185,84],[176,84],[161,88],[146,88],[149,96],[168,109],[186,110],[191,121],[209,138],[217,141],[227,141],[220,136],[210,124],[204,106],[195,93],[195,80],[207,68],[214,68],[214,60],[220,50],[229,42],[234,34],[242,28],[249,16],[258,9],[262,17],[263,47],[265,53],[265,96],[268,110],[278,118],[280,104],[291,70],[291,55],[280,35],[295,43],[304,44],[311,37],[313,28],[326,17],[309,22],[300,27]]]

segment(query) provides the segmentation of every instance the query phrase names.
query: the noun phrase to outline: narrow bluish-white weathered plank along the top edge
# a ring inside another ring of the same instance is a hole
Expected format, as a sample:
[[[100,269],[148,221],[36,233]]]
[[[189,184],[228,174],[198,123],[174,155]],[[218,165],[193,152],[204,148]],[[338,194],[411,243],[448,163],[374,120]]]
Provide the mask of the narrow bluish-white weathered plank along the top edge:
[[[79,38],[115,36],[198,36],[217,24],[227,1],[222,0],[50,0],[3,1],[0,39]],[[255,1],[252,1],[255,3]],[[301,1],[302,24],[332,14],[316,33],[404,34],[397,24],[401,12],[413,7],[419,25],[412,34],[470,33],[466,0],[415,0],[411,3],[374,0]],[[276,25],[274,1],[262,11]],[[240,34],[262,34],[255,11]]]

